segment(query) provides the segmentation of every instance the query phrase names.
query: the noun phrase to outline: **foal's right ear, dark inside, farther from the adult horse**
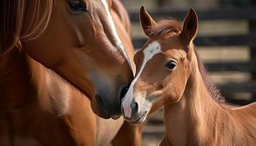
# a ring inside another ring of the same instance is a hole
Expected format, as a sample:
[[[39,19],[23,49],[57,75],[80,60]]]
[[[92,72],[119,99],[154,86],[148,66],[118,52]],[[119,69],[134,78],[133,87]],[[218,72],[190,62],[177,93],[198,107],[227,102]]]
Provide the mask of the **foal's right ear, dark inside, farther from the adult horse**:
[[[189,43],[195,38],[198,28],[197,13],[194,9],[190,8],[189,14],[184,20],[183,28],[180,34],[181,39],[189,45]]]

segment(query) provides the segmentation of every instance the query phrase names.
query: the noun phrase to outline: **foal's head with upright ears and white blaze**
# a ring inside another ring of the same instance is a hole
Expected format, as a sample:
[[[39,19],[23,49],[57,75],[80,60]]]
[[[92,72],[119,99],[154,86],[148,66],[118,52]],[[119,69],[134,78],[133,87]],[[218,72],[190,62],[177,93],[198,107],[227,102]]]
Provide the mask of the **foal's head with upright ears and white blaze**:
[[[192,40],[197,33],[197,15],[190,9],[183,28],[177,20],[156,23],[140,9],[140,23],[149,37],[135,54],[135,79],[124,96],[124,118],[141,123],[148,112],[181,99],[192,66]]]

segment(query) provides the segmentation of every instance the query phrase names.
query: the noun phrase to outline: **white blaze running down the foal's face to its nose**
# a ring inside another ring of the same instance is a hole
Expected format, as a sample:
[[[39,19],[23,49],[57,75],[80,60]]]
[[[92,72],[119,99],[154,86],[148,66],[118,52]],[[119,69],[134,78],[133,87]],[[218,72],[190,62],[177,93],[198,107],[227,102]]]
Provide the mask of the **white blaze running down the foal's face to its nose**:
[[[135,79],[132,81],[131,85],[129,86],[129,89],[127,91],[127,94],[124,96],[124,100],[122,101],[122,105],[124,107],[124,116],[127,118],[131,118],[132,115],[132,109],[131,109],[131,104],[132,104],[132,99],[134,98],[134,93],[133,93],[133,88],[135,83],[137,82],[138,78],[140,77],[140,74],[143,72],[144,67],[146,66],[146,63],[153,58],[154,55],[157,53],[161,53],[161,46],[159,42],[151,42],[151,44],[148,45],[143,50],[143,63],[141,65],[140,71],[138,72],[137,76]]]

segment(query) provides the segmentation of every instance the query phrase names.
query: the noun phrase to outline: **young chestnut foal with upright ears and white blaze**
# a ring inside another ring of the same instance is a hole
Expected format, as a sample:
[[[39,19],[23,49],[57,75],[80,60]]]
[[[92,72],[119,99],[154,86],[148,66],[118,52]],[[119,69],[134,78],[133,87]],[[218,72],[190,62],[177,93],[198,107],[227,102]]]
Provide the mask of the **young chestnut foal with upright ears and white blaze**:
[[[140,9],[149,40],[135,55],[138,72],[122,101],[124,117],[141,123],[149,111],[164,106],[160,145],[256,145],[256,103],[238,108],[222,104],[195,53],[197,21],[193,9],[183,28],[177,20],[156,23]]]

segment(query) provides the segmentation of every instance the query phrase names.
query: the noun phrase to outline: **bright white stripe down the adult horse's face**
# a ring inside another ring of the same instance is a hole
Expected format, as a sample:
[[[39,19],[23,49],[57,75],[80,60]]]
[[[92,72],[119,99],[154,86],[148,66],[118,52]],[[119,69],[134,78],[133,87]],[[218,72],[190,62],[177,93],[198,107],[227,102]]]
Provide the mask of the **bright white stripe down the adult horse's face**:
[[[128,63],[129,63],[129,67],[132,69],[132,64],[129,61],[129,57],[127,55],[127,50],[124,49],[124,45],[121,42],[121,39],[119,38],[119,36],[117,34],[115,23],[113,21],[113,18],[111,16],[109,8],[108,8],[108,2],[107,2],[107,0],[101,0],[101,1],[102,1],[102,4],[105,7],[106,12],[107,12],[107,19],[108,19],[108,22],[110,24],[112,35],[113,35],[114,39],[116,39],[116,45],[118,46],[118,49],[121,50],[121,53],[124,54],[124,57],[127,59]]]

